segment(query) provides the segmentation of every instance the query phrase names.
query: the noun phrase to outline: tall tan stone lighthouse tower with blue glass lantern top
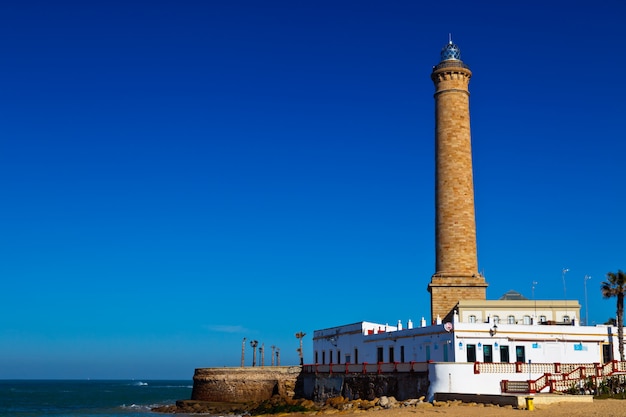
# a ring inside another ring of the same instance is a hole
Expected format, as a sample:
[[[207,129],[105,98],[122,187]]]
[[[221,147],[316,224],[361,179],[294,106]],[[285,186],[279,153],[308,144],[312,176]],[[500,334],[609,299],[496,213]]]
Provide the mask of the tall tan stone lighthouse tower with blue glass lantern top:
[[[428,285],[431,317],[451,320],[459,300],[485,300],[487,283],[478,272],[472,177],[469,81],[452,40],[433,68],[435,83],[435,273]]]

